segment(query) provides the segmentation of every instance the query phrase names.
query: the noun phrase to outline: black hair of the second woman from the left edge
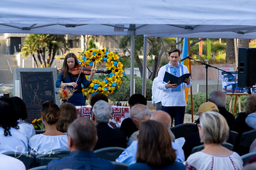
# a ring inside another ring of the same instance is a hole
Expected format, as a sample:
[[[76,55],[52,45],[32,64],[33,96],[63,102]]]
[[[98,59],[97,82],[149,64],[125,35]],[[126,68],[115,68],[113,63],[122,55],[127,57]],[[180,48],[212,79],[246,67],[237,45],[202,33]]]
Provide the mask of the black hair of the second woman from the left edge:
[[[17,120],[19,120],[20,118],[21,120],[25,120],[26,118],[28,118],[28,112],[24,101],[22,101],[20,97],[11,97],[10,100],[12,101],[12,104],[14,106]]]

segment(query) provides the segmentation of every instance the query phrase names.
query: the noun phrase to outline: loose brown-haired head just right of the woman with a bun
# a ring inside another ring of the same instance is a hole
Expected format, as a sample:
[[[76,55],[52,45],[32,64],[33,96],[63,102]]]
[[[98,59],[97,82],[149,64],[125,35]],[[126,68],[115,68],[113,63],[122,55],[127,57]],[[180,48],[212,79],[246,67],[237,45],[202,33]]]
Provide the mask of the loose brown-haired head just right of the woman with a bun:
[[[56,128],[58,131],[67,133],[68,125],[74,122],[77,118],[77,109],[71,103],[63,103],[60,105],[60,119],[57,122]]]

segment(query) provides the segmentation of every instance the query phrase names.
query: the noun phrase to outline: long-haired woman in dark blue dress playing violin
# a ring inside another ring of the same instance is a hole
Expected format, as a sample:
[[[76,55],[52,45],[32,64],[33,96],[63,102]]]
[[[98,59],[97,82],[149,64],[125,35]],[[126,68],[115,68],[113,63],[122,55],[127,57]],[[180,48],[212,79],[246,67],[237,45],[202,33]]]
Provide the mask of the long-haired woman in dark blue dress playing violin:
[[[83,84],[84,88],[89,87],[90,83],[92,83],[92,78],[96,73],[97,69],[92,69],[92,72],[90,73],[90,78],[88,80],[86,79],[84,74],[80,74],[77,80],[77,77],[75,77],[71,73],[72,68],[76,66],[79,66],[76,55],[74,53],[68,53],[64,59],[60,74],[58,75],[56,87],[67,87],[68,89],[73,88],[74,90],[76,90],[74,94],[68,99],[68,102],[74,104],[74,106],[84,106],[85,101],[82,93],[81,84]]]

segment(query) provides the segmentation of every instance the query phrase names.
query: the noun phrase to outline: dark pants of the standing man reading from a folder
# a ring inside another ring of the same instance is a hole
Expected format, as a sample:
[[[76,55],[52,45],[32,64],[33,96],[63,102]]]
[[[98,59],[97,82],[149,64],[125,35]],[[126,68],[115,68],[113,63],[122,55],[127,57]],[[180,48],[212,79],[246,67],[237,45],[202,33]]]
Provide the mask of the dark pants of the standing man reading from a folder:
[[[173,118],[175,125],[183,124],[185,116],[185,106],[162,106],[162,110],[167,112],[173,123]]]

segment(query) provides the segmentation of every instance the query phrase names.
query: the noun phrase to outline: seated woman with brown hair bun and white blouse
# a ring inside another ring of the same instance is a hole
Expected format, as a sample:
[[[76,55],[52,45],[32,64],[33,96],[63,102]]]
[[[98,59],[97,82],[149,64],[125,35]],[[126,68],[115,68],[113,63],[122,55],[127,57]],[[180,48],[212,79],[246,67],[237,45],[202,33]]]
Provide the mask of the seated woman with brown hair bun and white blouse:
[[[38,155],[53,150],[68,149],[67,134],[56,129],[56,123],[60,118],[60,108],[52,101],[46,101],[42,104],[41,113],[45,132],[29,139],[29,153]]]

